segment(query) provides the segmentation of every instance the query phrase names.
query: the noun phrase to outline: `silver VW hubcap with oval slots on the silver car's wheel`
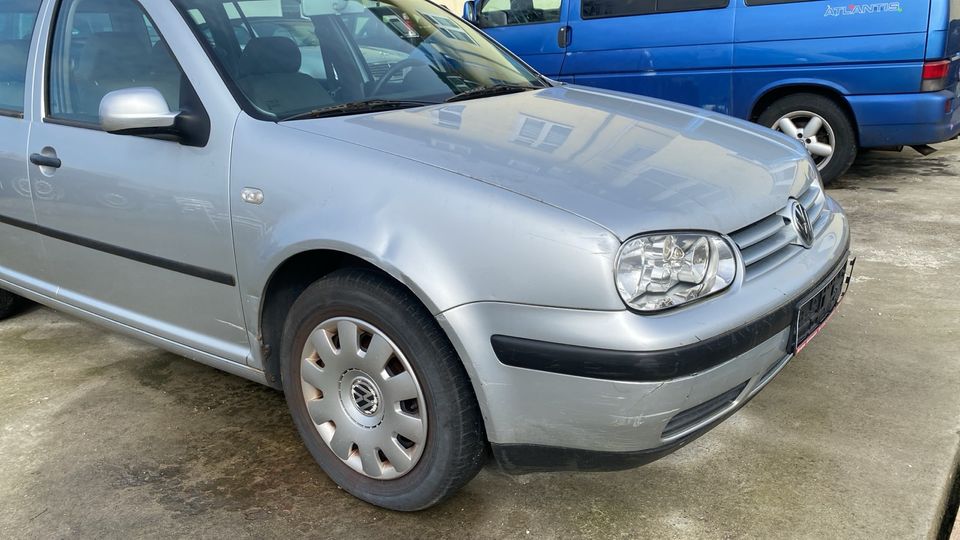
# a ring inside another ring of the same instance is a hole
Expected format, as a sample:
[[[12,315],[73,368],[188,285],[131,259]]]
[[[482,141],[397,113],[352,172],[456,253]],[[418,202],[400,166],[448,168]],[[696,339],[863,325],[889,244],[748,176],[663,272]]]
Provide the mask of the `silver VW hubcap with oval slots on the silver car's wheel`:
[[[427,411],[399,348],[374,326],[340,317],[314,329],[300,358],[307,412],[330,450],[370,478],[410,472],[427,442]]]

